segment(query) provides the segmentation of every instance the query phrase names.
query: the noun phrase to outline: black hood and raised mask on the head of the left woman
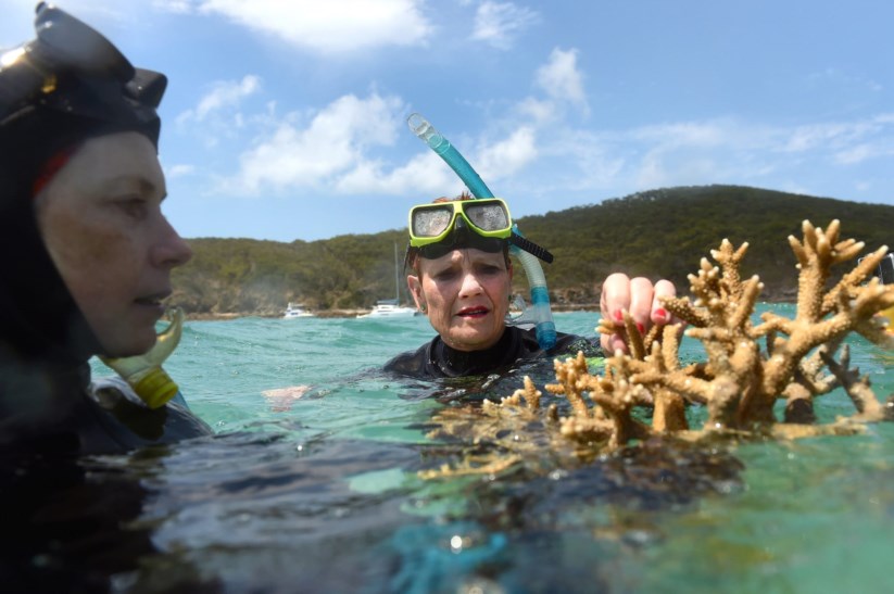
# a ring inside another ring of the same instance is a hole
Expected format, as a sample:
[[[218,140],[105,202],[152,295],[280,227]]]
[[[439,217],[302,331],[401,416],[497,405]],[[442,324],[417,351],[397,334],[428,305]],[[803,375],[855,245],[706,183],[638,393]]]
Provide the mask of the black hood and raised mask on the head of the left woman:
[[[167,79],[55,7],[37,5],[35,31],[0,58],[0,338],[21,356],[86,359],[98,341],[47,253],[33,184],[89,138],[137,131],[158,147]]]

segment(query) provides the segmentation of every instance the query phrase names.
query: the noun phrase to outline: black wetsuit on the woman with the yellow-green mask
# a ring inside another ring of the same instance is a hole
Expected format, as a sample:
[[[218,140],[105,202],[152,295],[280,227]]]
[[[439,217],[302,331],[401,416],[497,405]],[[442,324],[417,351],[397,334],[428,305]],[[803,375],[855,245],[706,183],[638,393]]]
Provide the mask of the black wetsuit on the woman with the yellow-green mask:
[[[407,351],[395,356],[385,364],[385,370],[414,378],[479,376],[500,372],[521,359],[557,356],[564,353],[574,355],[577,351],[584,351],[587,356],[602,354],[592,340],[564,332],[557,332],[555,346],[544,351],[538,344],[533,329],[525,330],[508,326],[496,344],[490,349],[456,351],[444,344],[438,336],[416,351]]]

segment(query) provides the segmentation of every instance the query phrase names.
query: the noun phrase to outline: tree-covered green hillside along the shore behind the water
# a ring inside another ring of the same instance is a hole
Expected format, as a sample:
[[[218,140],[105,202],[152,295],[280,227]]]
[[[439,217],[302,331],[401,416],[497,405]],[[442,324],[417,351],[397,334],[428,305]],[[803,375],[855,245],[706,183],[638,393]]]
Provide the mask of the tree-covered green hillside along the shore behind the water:
[[[876,249],[892,241],[894,206],[698,186],[522,217],[518,225],[555,254],[544,271],[562,307],[595,305],[595,283],[616,270],[669,278],[685,290],[687,275],[723,238],[748,242],[743,276],[759,274],[767,299],[791,298],[796,273],[786,238],[799,236],[805,218],[821,227],[838,218],[844,237]],[[394,295],[394,242],[402,257],[403,229],[292,243],[192,239],[193,260],[174,271],[173,301],[190,314],[274,315],[289,301],[314,309],[369,307]],[[516,290],[527,294],[520,267],[517,273]]]

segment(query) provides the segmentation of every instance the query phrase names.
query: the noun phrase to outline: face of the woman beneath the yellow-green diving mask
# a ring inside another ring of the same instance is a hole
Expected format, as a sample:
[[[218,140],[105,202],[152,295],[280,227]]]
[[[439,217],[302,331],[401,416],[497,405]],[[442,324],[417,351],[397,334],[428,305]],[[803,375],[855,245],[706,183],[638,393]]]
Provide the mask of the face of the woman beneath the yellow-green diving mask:
[[[503,336],[512,268],[502,253],[465,249],[420,258],[419,276],[406,280],[416,305],[449,346],[480,351]]]

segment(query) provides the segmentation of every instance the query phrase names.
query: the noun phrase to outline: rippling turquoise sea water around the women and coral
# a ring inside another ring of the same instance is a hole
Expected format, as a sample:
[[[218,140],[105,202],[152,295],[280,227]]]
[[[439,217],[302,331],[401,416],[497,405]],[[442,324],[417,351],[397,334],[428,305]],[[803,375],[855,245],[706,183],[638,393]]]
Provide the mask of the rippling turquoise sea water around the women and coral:
[[[595,314],[558,314],[591,336]],[[146,488],[156,549],[122,590],[890,592],[894,424],[864,435],[629,452],[544,473],[425,481],[426,438],[462,382],[378,368],[433,336],[406,320],[192,321],[166,364],[214,439],[99,460]],[[891,366],[851,341],[886,396]],[[697,353],[697,345],[685,344]],[[98,372],[101,367],[96,366]],[[538,381],[549,378],[550,365]],[[291,403],[262,392],[311,389]],[[490,394],[508,395],[519,375]],[[479,397],[475,395],[474,397]],[[851,414],[823,396],[823,420]],[[478,590],[476,590],[478,589]]]

